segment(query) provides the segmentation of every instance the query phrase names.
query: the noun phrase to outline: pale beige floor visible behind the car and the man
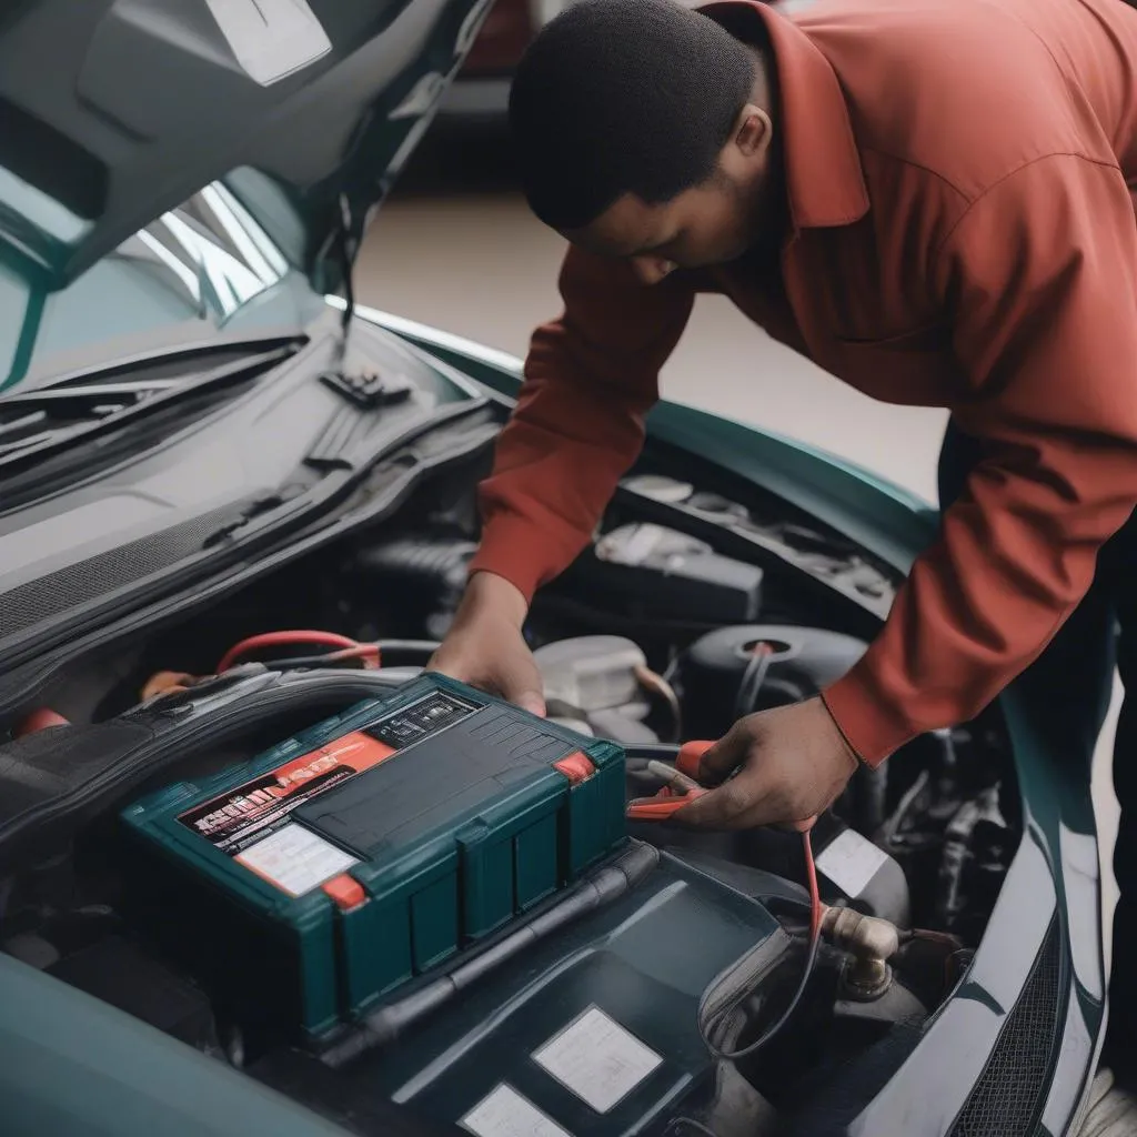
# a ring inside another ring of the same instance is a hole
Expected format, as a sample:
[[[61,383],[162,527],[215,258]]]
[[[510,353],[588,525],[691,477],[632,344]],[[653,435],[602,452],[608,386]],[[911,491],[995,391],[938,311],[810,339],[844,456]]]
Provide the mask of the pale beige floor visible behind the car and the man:
[[[559,238],[529,215],[514,189],[500,127],[435,127],[372,226],[357,291],[362,304],[523,355],[532,327],[559,310],[562,252]],[[663,391],[805,439],[936,500],[943,412],[868,399],[774,343],[725,300],[696,306]],[[1117,827],[1112,735],[1111,721],[1095,786],[1106,849]]]

